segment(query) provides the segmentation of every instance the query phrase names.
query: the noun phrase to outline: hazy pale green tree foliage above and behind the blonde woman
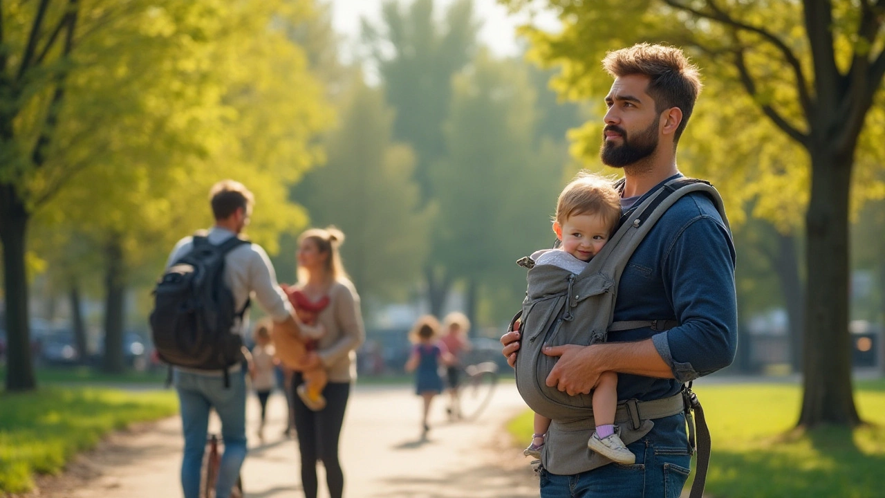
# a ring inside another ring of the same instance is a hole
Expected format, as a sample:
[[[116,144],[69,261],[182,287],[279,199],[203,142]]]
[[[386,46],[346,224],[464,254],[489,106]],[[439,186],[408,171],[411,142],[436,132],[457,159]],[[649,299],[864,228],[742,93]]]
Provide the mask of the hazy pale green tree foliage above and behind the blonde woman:
[[[358,292],[377,300],[402,299],[414,289],[433,215],[412,180],[412,149],[391,141],[392,121],[381,91],[355,82],[341,127],[327,140],[326,165],[296,190],[314,225],[342,229],[345,267]]]

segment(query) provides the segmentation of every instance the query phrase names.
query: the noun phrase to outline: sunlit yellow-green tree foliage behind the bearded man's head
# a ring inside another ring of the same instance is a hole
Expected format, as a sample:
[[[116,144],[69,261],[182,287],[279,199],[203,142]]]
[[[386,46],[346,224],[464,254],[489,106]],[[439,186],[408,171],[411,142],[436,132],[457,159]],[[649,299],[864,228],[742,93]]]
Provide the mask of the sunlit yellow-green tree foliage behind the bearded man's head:
[[[730,26],[690,15],[664,0],[573,2],[570,0],[503,0],[513,10],[547,6],[558,12],[564,28],[550,34],[523,27],[532,43],[529,56],[544,66],[558,66],[554,81],[560,94],[595,103],[603,113],[603,97],[612,82],[600,61],[607,51],[633,43],[673,43],[681,46],[701,67],[704,92],[681,140],[680,167],[714,183],[727,201],[732,222],[748,216],[773,222],[784,233],[804,221],[809,200],[810,156],[802,144],[787,136],[761,107],[770,105],[800,132],[810,125],[797,90],[797,78],[782,51],[761,35],[734,34]],[[801,2],[678,2],[697,12],[722,12],[748,25],[764,27],[797,54],[806,76],[813,74],[808,40],[804,32]],[[840,66],[850,63],[851,40],[857,40],[858,8],[853,2],[835,2],[835,49]],[[881,49],[881,41],[877,48]],[[743,50],[757,93],[750,97],[735,68],[737,51]],[[809,76],[810,78],[810,76]],[[806,85],[811,84],[804,82]],[[885,92],[876,94],[860,137],[852,184],[852,206],[857,212],[871,198],[885,196],[876,171],[885,164]],[[596,164],[601,119],[588,121],[572,134],[575,157]],[[724,159],[727,158],[727,161]],[[748,208],[748,203],[752,204]],[[745,211],[747,209],[747,211]]]

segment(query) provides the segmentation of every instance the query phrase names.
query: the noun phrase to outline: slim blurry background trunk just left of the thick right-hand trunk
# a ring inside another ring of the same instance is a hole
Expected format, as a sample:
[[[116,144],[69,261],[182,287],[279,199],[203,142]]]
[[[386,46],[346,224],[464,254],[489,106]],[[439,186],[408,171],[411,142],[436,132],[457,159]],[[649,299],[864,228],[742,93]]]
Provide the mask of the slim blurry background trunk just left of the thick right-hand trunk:
[[[804,331],[804,291],[802,278],[799,276],[799,259],[797,256],[796,236],[783,235],[777,232],[777,257],[774,271],[781,284],[781,293],[787,305],[789,319],[789,358],[793,371],[802,371],[802,335]]]

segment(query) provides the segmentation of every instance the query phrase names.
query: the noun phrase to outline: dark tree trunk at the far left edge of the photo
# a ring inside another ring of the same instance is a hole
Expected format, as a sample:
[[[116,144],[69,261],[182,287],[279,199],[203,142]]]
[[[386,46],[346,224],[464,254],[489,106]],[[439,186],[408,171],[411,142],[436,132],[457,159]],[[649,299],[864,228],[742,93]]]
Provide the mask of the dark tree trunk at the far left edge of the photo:
[[[0,242],[3,243],[6,297],[6,390],[31,391],[37,386],[27,316],[25,242],[30,218],[18,191],[0,183]]]

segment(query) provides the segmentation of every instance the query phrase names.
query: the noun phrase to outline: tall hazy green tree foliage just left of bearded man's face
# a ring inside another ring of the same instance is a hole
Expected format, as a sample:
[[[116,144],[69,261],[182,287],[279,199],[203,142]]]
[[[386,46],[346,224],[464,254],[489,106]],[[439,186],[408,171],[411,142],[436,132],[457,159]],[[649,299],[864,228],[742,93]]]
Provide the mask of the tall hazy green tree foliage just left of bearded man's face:
[[[566,158],[549,139],[535,139],[535,109],[535,88],[518,60],[481,51],[453,81],[447,154],[431,176],[440,208],[435,262],[482,284],[494,300],[486,323],[512,315],[525,291],[514,262],[554,237],[550,215]]]

